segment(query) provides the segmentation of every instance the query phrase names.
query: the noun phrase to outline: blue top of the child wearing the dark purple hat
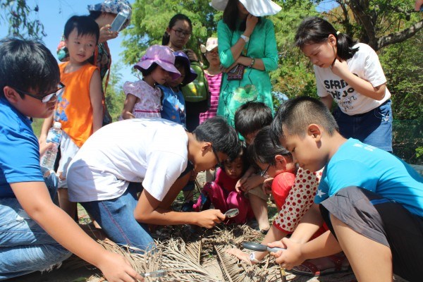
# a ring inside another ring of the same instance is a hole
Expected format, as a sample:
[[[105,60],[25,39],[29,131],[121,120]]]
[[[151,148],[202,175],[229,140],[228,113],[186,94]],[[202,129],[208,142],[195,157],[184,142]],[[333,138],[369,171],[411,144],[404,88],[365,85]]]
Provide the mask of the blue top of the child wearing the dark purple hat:
[[[163,100],[161,109],[161,118],[179,123],[186,128],[186,112],[185,112],[185,99],[183,99],[182,91],[178,87],[178,91],[174,92],[171,87],[159,85],[163,90]]]

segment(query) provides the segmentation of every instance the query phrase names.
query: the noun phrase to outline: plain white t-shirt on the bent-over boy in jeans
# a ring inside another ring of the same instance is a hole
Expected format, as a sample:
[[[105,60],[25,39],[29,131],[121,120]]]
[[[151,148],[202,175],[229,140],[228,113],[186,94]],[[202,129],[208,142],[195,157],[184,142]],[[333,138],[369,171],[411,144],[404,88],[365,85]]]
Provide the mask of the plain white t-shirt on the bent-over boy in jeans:
[[[133,118],[104,126],[75,155],[68,168],[72,202],[119,197],[129,182],[161,201],[188,164],[185,129],[157,118]]]

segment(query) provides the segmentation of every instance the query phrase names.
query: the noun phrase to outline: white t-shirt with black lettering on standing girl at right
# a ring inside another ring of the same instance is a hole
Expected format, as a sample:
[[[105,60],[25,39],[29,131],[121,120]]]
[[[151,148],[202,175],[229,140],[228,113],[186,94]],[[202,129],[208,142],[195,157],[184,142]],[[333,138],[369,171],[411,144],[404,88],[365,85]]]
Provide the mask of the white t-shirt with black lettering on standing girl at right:
[[[355,52],[353,58],[347,60],[348,69],[351,73],[367,80],[374,87],[384,84],[386,78],[376,52],[364,43],[357,43],[355,47],[360,47],[360,49]],[[380,101],[366,97],[355,91],[338,75],[333,74],[331,68],[314,66],[314,74],[316,75],[319,97],[326,97],[331,94],[341,111],[350,116],[364,114],[376,109],[391,97],[388,87],[386,87],[384,99]]]

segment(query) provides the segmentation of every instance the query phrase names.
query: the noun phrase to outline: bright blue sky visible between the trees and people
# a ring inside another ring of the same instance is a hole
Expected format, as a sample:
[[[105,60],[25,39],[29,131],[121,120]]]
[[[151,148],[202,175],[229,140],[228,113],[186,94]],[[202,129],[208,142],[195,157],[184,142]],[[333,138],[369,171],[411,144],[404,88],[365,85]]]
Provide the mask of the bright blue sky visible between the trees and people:
[[[87,15],[87,5],[100,3],[102,0],[27,0],[28,5],[34,8],[36,5],[39,6],[38,17],[35,18],[33,15],[31,19],[38,19],[44,25],[44,32],[47,36],[43,38],[44,44],[50,49],[51,53],[56,56],[56,47],[59,44],[61,35],[63,33],[63,27],[65,26],[66,20],[73,15]],[[131,4],[135,0],[129,0]],[[328,11],[333,8],[336,3],[332,0],[324,0],[319,6],[318,11]],[[165,28],[165,27],[163,27]],[[4,22],[0,24],[0,38],[6,37],[7,25]],[[123,35],[118,36],[116,39],[109,40],[109,48],[112,56],[112,63],[118,61],[123,62],[123,48],[121,46]],[[132,66],[124,65],[121,63],[121,69],[119,70],[122,76],[121,83],[126,80],[137,80],[137,78],[131,73]]]

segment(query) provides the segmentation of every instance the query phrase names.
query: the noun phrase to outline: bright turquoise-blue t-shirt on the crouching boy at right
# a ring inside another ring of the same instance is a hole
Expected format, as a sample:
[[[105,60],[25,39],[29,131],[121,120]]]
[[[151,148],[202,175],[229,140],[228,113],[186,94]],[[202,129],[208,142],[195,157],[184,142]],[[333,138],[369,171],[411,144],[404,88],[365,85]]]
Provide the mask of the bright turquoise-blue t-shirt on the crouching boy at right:
[[[348,186],[370,190],[423,216],[422,176],[393,154],[353,138],[339,147],[324,168],[314,202],[320,204]]]

